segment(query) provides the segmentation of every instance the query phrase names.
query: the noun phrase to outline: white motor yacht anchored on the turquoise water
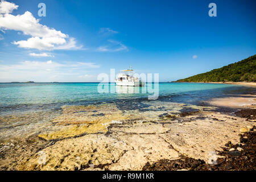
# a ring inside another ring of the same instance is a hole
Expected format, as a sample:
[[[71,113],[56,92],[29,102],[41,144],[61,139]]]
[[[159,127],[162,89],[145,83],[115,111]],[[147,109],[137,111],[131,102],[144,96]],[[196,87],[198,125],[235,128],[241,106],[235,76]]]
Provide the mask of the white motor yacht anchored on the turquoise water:
[[[130,67],[130,69],[121,70],[118,73],[115,84],[118,86],[144,86],[145,82],[134,76],[134,70]]]

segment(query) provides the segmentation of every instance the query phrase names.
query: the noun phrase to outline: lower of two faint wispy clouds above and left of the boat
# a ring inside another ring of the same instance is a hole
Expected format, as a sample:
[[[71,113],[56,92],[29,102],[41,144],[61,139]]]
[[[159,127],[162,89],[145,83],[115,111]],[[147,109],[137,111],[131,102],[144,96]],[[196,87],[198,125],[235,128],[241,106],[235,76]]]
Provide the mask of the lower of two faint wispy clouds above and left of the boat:
[[[107,46],[100,46],[97,48],[99,52],[118,52],[118,51],[129,51],[129,49],[121,42],[115,40],[108,40]]]

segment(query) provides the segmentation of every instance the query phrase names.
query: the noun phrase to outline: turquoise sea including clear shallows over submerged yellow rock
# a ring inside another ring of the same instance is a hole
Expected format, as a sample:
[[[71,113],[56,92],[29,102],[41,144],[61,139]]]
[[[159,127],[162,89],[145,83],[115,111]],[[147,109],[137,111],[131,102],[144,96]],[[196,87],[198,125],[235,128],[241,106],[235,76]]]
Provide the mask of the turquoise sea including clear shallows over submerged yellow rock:
[[[195,106],[202,105],[201,101],[254,90],[240,85],[159,83],[158,99],[148,100],[148,96],[153,94],[148,93],[148,86],[108,86],[109,91],[114,88],[114,93],[98,93],[98,83],[2,83],[0,139],[24,138],[54,131],[57,134],[51,136],[61,138],[65,134],[73,137],[73,134],[63,131],[74,133],[75,130],[75,135],[106,131],[111,122],[129,119],[159,122],[168,114],[202,109]],[[147,92],[142,93],[143,89]],[[88,110],[92,105],[94,110]],[[74,129],[73,125],[79,127]]]

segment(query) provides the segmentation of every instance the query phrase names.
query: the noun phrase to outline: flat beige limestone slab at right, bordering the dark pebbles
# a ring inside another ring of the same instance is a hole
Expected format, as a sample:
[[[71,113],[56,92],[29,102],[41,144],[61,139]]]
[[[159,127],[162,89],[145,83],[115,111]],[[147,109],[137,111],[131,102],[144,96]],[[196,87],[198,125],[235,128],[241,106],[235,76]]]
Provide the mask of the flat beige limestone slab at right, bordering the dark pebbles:
[[[208,162],[211,154],[221,151],[226,141],[239,143],[239,129],[249,122],[243,118],[234,118],[237,120],[227,119],[224,114],[205,112],[198,118],[191,118],[190,122],[185,122],[185,125],[179,126],[173,123],[170,125],[171,132],[159,135],[181,154]]]

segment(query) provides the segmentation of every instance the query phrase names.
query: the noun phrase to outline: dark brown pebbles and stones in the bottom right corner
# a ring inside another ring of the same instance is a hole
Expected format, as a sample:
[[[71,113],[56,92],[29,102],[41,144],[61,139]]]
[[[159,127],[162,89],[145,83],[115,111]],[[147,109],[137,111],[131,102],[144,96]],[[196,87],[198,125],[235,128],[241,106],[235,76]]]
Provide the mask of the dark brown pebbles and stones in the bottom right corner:
[[[254,126],[255,129],[255,126]],[[246,138],[246,139],[245,139]],[[250,131],[240,134],[241,144],[232,144],[230,141],[225,144],[223,151],[217,155],[221,156],[216,160],[216,164],[206,163],[201,159],[188,158],[182,155],[177,160],[158,160],[155,163],[147,163],[143,170],[145,171],[176,171],[180,169],[200,170],[200,171],[244,171],[255,170],[255,150],[256,150],[256,132]],[[230,147],[234,150],[230,151]]]

